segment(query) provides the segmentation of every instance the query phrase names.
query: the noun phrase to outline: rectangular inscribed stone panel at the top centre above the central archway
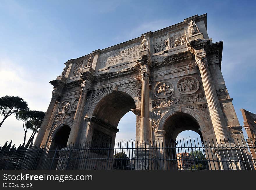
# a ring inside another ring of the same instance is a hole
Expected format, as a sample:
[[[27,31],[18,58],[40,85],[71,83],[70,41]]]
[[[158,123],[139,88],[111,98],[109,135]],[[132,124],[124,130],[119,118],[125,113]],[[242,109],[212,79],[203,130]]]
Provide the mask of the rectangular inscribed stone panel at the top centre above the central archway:
[[[118,61],[136,57],[141,50],[141,42],[136,42],[119,49],[111,50],[99,55],[98,63],[100,68],[113,65]]]

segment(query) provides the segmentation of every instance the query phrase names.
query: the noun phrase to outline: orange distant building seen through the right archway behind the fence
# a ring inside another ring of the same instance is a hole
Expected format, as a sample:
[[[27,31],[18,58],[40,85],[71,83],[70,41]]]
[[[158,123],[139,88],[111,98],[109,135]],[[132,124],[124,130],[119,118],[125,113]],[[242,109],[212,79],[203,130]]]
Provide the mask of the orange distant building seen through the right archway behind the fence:
[[[176,157],[178,169],[180,170],[191,169],[191,167],[195,164],[192,155],[187,152],[178,153],[176,154]]]

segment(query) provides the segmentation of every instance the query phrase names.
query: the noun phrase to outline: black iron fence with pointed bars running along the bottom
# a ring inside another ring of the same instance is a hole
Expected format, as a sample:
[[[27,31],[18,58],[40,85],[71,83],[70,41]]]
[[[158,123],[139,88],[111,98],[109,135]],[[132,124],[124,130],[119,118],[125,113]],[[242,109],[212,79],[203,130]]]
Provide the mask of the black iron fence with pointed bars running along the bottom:
[[[179,139],[71,144],[0,151],[0,169],[255,169],[255,142]]]

